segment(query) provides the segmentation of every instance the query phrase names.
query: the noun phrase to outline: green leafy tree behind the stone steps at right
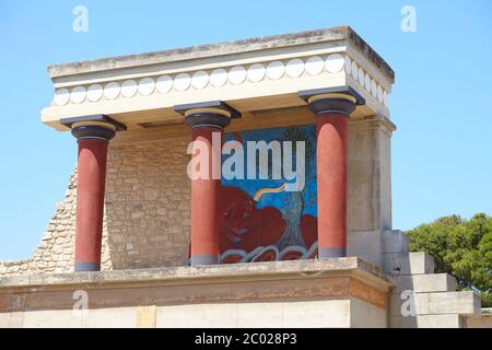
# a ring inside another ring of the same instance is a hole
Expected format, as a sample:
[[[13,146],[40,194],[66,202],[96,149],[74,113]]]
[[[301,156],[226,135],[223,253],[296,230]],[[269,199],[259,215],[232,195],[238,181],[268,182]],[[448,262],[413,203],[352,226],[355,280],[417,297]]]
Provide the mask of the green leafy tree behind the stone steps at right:
[[[443,217],[407,232],[410,250],[426,252],[436,272],[448,272],[458,290],[473,290],[482,306],[492,306],[492,218],[478,213],[470,220]]]

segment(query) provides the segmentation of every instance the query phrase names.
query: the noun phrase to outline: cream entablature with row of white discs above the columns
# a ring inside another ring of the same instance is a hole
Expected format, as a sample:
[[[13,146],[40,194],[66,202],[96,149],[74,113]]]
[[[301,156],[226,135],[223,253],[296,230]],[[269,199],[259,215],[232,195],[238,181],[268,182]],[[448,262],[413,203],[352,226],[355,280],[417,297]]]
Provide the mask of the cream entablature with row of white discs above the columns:
[[[104,114],[128,130],[145,129],[184,122],[175,105],[221,100],[256,113],[305,105],[301,90],[345,85],[365,100],[353,118],[389,118],[394,75],[358,38],[342,27],[56,66],[55,97],[43,121],[67,130],[62,118]]]

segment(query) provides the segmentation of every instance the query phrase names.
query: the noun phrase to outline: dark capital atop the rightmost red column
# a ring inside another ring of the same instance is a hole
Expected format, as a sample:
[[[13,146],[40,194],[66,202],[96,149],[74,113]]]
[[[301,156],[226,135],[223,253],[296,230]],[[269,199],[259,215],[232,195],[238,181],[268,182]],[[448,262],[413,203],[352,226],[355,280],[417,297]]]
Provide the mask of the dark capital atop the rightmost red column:
[[[365,100],[351,86],[337,86],[300,91],[297,95],[307,102],[309,109],[316,115],[341,113],[349,116]]]

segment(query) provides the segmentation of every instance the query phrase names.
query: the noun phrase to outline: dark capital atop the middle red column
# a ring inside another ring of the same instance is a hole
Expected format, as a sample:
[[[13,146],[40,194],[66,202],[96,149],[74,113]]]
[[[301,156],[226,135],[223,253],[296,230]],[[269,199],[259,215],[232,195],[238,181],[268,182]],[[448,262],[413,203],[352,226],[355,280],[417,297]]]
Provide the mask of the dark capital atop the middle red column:
[[[174,106],[174,110],[185,116],[191,128],[213,127],[223,129],[232,118],[241,118],[241,113],[222,101],[210,101]]]

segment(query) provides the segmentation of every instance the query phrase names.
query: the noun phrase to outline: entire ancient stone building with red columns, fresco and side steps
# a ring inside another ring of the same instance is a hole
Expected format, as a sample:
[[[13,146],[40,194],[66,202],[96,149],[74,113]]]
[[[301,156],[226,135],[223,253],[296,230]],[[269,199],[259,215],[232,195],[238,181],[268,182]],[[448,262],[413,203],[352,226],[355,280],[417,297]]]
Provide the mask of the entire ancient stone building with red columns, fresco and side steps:
[[[0,262],[0,327],[490,325],[393,230],[395,75],[351,28],[49,74],[43,122],[72,132],[79,163],[33,258]],[[254,163],[268,178],[222,173],[225,144],[256,155],[250,141],[302,141],[305,186],[270,177],[273,143]]]

